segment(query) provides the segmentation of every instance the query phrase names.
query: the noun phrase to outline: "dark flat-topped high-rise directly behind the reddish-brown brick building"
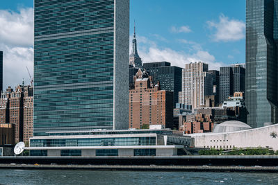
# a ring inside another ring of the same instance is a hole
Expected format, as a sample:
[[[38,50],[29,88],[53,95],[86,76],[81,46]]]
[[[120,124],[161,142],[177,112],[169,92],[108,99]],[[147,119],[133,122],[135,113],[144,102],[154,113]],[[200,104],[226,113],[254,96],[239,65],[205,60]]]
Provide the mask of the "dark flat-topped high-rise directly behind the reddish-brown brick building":
[[[155,83],[159,81],[161,90],[174,93],[173,107],[176,103],[179,103],[182,71],[180,67],[171,66],[170,62],[150,62],[144,63],[143,68],[149,71],[149,75],[154,77]]]

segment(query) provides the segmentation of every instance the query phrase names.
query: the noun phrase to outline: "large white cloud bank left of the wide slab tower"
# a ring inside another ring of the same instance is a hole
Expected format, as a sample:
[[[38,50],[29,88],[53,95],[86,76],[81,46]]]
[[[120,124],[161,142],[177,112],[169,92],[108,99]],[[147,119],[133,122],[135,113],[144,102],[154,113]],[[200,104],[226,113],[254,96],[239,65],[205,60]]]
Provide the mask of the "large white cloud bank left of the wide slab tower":
[[[26,67],[33,76],[33,8],[0,10],[0,25],[3,89],[21,84],[23,78],[29,84]]]

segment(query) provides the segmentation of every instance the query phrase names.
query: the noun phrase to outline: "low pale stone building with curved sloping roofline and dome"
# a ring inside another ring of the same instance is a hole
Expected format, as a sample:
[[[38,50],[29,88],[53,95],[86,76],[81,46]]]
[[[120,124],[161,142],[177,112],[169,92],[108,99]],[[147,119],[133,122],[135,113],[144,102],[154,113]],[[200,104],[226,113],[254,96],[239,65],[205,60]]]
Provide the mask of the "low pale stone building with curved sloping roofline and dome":
[[[231,150],[233,148],[272,148],[278,150],[278,124],[252,129],[246,123],[227,121],[212,133],[187,134],[195,148]]]

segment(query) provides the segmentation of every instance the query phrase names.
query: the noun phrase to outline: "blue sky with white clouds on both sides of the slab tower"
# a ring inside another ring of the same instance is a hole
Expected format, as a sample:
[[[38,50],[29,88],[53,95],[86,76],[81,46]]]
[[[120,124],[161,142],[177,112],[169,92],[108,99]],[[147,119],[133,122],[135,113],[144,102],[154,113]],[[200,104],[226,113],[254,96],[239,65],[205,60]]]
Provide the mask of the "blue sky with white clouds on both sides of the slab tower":
[[[206,62],[210,69],[245,62],[245,0],[130,0],[143,62]],[[33,73],[33,0],[1,0],[4,87]]]

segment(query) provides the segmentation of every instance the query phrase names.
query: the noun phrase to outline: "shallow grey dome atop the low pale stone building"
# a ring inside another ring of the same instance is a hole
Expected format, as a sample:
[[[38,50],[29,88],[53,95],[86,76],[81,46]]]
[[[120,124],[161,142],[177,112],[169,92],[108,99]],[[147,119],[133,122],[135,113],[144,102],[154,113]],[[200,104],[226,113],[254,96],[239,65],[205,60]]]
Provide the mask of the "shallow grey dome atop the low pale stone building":
[[[236,132],[248,129],[252,129],[252,127],[241,121],[225,121],[219,125],[216,125],[213,129],[213,133]]]

